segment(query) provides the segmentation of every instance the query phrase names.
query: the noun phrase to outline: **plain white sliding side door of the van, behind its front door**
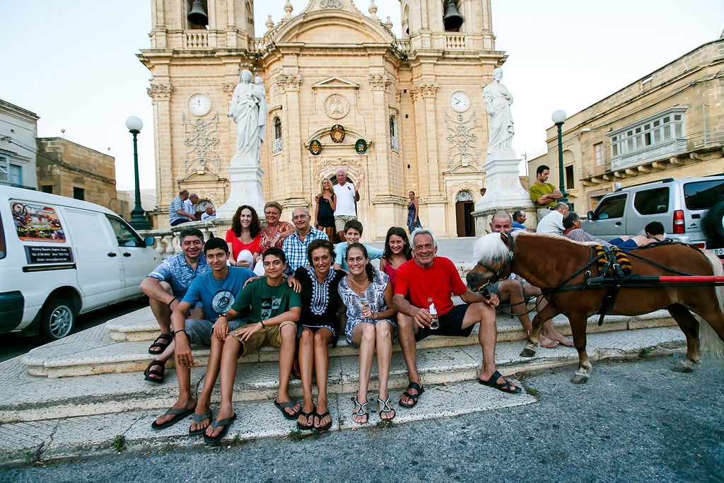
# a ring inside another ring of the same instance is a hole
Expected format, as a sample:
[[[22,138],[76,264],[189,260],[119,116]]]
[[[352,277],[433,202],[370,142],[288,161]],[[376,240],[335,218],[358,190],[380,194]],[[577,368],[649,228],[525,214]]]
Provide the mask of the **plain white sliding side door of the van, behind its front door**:
[[[123,294],[123,262],[106,217],[98,211],[64,207],[71,235],[83,311],[119,301]]]

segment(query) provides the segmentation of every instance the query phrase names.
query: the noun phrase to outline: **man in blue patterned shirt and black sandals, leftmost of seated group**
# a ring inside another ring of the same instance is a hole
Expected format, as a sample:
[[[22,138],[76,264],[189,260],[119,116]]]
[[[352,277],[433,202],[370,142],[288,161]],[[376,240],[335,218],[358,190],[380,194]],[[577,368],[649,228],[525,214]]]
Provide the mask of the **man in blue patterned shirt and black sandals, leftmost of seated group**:
[[[162,382],[164,364],[174,354],[171,337],[171,312],[178,306],[195,277],[211,271],[203,257],[203,233],[187,228],[179,233],[181,253],[161,261],[153,272],[140,282],[140,290],[148,295],[148,305],[161,327],[161,335],[153,341],[148,353],[156,357],[156,364],[146,369],[146,380]],[[203,310],[195,307],[192,319],[202,319]],[[156,369],[154,369],[156,368]]]

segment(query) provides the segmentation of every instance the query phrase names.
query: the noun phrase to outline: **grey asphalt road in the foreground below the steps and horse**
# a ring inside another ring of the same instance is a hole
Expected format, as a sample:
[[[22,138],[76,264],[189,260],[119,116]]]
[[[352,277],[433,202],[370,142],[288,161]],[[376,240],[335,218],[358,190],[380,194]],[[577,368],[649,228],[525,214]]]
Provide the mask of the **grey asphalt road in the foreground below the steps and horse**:
[[[670,371],[680,358],[597,364],[586,385],[568,382],[570,366],[530,374],[539,401],[528,406],[299,442],[126,450],[0,469],[0,480],[723,482],[724,364]]]

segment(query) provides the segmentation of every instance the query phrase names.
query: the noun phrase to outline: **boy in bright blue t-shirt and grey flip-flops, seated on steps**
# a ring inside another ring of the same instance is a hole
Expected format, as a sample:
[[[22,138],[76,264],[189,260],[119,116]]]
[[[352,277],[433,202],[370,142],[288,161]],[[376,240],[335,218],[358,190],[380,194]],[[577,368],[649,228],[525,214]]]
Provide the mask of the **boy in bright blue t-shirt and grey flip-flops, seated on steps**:
[[[229,245],[221,238],[211,238],[203,245],[203,254],[211,267],[211,272],[196,277],[184,295],[181,303],[171,314],[171,327],[176,349],[176,376],[179,380],[179,398],[174,406],[163,416],[159,416],[151,424],[153,429],[163,429],[194,413],[189,434],[203,434],[211,423],[211,390],[214,389],[216,377],[219,375],[219,363],[224,345],[224,337],[229,329],[241,327],[245,320],[220,317],[226,314],[241,293],[245,282],[254,277],[249,269],[228,266]],[[201,303],[203,319],[186,319],[189,308]],[[214,335],[212,335],[212,332]],[[203,381],[203,392],[198,401],[191,396],[191,345],[211,345],[209,364],[206,366],[206,377]]]

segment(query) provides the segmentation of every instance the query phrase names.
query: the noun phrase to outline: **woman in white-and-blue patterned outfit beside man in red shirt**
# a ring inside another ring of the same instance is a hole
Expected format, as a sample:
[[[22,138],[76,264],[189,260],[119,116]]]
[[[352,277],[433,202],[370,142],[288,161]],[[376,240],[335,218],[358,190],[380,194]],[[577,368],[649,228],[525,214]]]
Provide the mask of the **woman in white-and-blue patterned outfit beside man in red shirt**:
[[[397,332],[395,309],[388,308],[392,307],[392,285],[387,282],[387,274],[375,270],[369,263],[367,250],[361,243],[353,243],[347,249],[347,266],[350,273],[339,287],[340,298],[347,307],[345,336],[348,344],[360,349],[360,382],[352,419],[358,424],[365,424],[369,419],[367,387],[376,349],[379,417],[390,420],[395,417],[395,410],[390,407],[387,379],[392,340]]]

